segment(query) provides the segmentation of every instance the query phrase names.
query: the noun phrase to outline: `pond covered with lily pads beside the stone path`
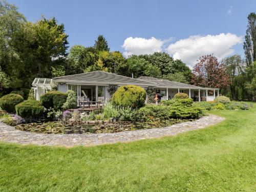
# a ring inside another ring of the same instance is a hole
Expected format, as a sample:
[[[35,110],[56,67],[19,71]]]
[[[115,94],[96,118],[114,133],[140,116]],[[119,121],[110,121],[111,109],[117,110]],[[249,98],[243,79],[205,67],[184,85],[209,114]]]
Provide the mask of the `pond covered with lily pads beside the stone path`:
[[[60,121],[38,122],[19,124],[15,128],[21,131],[46,133],[46,134],[90,134],[90,133],[116,133],[122,131],[133,131],[140,129],[152,129],[170,126],[193,119],[168,119],[150,122],[131,122],[131,121],[91,121],[80,123],[62,123]]]

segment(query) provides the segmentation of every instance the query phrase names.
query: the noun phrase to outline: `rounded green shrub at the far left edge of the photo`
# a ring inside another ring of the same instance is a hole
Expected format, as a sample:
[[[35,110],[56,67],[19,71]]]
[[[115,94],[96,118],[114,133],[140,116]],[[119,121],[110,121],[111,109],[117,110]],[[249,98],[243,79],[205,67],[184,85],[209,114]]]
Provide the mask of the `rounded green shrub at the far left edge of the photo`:
[[[15,112],[15,105],[23,102],[24,99],[18,94],[8,94],[0,98],[0,107],[7,112]]]

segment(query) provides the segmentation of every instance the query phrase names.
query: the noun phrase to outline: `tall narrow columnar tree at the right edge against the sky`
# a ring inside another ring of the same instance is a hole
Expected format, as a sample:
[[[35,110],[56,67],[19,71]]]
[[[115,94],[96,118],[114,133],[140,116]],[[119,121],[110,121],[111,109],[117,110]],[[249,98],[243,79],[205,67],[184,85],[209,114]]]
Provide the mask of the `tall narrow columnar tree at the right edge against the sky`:
[[[248,25],[244,42],[244,53],[247,66],[256,61],[256,14],[248,15]]]

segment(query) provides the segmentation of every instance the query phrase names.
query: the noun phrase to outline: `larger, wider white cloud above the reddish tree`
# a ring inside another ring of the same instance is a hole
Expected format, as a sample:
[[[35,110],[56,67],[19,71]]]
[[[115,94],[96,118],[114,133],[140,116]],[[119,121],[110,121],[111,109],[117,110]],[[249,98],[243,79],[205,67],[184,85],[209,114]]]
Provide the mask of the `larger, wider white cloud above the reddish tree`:
[[[218,59],[222,59],[232,54],[234,52],[232,47],[241,44],[242,39],[242,36],[232,33],[195,35],[170,44],[166,51],[173,55],[174,59],[181,59],[191,68],[202,55],[213,53]]]

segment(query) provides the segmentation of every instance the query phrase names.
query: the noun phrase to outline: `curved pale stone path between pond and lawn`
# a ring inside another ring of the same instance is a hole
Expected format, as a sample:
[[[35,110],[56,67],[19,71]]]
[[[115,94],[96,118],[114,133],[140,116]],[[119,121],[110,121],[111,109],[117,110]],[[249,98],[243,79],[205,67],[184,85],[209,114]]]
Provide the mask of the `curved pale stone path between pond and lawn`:
[[[99,134],[40,134],[15,130],[14,127],[0,122],[0,141],[19,144],[61,145],[66,147],[75,145],[89,146],[172,136],[187,131],[203,129],[206,126],[223,120],[223,117],[209,115],[195,121],[178,123],[163,128]]]

